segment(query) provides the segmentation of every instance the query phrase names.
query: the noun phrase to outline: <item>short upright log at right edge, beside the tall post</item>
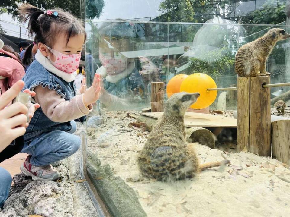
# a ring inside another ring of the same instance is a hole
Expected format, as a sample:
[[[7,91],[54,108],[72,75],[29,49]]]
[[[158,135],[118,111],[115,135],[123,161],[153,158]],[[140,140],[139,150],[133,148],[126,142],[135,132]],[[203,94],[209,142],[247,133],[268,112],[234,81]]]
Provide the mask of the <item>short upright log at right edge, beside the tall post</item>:
[[[271,123],[273,158],[290,164],[290,120],[279,120]]]

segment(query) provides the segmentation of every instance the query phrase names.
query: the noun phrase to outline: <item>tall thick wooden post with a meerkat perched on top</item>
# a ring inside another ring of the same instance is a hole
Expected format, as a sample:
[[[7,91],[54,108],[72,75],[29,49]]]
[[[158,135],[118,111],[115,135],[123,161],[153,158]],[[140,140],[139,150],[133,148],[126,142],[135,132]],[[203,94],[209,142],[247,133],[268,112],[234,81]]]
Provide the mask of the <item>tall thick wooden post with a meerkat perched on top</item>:
[[[269,76],[238,77],[237,151],[271,156],[271,106]]]

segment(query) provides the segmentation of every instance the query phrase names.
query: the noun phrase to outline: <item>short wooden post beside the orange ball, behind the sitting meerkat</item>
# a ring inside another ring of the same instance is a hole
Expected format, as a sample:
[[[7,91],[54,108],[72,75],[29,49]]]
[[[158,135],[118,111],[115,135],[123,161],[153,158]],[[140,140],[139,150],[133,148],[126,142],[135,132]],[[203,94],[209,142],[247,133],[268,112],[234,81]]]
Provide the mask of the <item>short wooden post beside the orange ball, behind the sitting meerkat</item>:
[[[151,83],[151,112],[164,111],[164,82]]]

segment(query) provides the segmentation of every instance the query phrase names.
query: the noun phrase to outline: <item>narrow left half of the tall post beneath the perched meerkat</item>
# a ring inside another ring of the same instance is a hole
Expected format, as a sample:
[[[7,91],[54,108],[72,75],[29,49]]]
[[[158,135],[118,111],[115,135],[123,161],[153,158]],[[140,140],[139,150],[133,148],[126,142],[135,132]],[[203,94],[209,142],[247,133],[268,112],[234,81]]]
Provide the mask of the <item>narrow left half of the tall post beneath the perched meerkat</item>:
[[[237,152],[249,151],[250,78],[238,77],[237,86]]]

